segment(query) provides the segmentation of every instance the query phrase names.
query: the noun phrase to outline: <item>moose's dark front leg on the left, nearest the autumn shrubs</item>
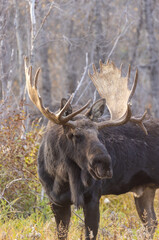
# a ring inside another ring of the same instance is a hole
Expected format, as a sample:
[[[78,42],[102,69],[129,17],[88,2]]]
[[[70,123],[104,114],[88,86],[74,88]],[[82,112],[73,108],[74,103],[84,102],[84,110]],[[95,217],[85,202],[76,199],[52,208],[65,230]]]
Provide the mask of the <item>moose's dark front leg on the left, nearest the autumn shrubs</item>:
[[[66,205],[59,207],[52,204],[51,208],[56,220],[58,239],[66,240],[71,217],[71,206]]]

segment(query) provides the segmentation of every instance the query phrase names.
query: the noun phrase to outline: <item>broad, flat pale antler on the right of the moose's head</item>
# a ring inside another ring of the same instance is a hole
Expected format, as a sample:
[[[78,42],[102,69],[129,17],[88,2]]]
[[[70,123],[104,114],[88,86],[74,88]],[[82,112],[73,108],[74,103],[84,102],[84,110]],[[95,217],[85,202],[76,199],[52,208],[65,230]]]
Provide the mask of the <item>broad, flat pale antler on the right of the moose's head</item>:
[[[100,60],[100,72],[96,70],[93,64],[93,74],[89,76],[94,83],[99,95],[106,99],[106,105],[110,112],[110,120],[98,123],[99,128],[105,126],[118,126],[128,121],[137,123],[147,134],[143,124],[146,111],[141,118],[132,117],[130,100],[135,92],[137,85],[138,72],[136,70],[134,83],[131,90],[128,88],[130,77],[130,66],[126,77],[122,77],[121,68],[117,68],[113,62],[107,61],[103,64]]]

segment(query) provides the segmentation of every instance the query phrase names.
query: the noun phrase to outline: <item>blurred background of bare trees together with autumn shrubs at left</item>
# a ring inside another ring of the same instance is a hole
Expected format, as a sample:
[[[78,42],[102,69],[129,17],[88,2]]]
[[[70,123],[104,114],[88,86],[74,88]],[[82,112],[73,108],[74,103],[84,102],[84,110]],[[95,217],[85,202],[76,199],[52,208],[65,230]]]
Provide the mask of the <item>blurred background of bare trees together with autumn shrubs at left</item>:
[[[111,59],[118,67],[123,63],[123,75],[131,64],[130,85],[138,68],[133,111],[147,108],[159,117],[158,42],[157,0],[1,0],[0,199],[17,202],[22,211],[36,205],[41,191],[36,155],[42,130],[26,120],[41,115],[27,97],[24,56],[34,73],[41,67],[45,106],[53,108],[73,92],[74,104],[95,101],[99,95],[88,70]]]

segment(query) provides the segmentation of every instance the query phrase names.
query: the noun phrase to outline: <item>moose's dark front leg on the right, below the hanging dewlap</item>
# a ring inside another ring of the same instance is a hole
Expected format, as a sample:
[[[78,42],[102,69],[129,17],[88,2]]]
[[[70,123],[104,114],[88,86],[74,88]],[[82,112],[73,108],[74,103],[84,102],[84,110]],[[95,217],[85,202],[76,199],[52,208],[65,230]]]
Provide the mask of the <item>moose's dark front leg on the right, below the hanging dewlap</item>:
[[[99,225],[99,200],[92,199],[84,204],[85,238],[95,240]]]

